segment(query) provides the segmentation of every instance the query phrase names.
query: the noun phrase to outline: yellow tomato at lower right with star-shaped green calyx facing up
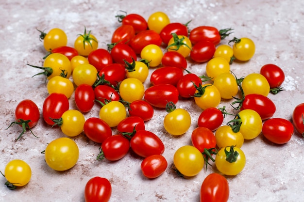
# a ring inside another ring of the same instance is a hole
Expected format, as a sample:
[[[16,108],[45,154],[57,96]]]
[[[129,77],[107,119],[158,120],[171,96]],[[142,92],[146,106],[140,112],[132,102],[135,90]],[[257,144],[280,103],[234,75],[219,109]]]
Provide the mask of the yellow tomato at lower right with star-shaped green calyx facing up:
[[[244,152],[234,146],[221,148],[215,157],[215,165],[224,175],[237,175],[244,169],[245,164]]]

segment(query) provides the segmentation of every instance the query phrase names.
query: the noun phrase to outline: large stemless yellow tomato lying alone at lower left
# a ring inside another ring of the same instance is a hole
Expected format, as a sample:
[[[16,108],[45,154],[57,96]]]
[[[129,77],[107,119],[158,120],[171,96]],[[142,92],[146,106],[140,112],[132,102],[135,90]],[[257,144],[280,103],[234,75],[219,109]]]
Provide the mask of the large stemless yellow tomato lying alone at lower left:
[[[78,161],[79,149],[69,138],[52,140],[45,149],[45,162],[55,171],[66,171]]]

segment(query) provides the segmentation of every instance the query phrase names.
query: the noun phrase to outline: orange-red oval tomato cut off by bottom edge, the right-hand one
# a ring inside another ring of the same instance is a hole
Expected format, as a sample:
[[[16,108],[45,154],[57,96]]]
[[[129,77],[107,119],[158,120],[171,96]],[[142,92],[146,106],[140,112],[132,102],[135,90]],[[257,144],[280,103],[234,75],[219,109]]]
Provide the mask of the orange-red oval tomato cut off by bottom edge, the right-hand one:
[[[227,202],[228,199],[227,179],[219,173],[209,174],[201,186],[200,202]]]

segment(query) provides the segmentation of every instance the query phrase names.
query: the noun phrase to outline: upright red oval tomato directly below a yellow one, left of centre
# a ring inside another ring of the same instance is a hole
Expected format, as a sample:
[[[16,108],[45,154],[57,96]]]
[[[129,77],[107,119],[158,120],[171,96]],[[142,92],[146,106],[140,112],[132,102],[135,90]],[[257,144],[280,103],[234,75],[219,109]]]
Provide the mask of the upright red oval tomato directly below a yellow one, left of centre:
[[[88,84],[79,85],[74,94],[76,107],[83,113],[89,112],[94,106],[95,93]]]

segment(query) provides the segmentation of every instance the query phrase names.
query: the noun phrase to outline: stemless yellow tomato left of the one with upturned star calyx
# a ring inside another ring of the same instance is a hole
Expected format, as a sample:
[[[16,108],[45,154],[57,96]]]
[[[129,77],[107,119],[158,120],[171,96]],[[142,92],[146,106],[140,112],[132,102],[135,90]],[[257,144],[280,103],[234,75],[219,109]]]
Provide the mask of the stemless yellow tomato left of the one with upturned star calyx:
[[[196,147],[191,145],[182,146],[177,149],[173,156],[173,163],[181,174],[192,177],[203,169],[203,155]]]

